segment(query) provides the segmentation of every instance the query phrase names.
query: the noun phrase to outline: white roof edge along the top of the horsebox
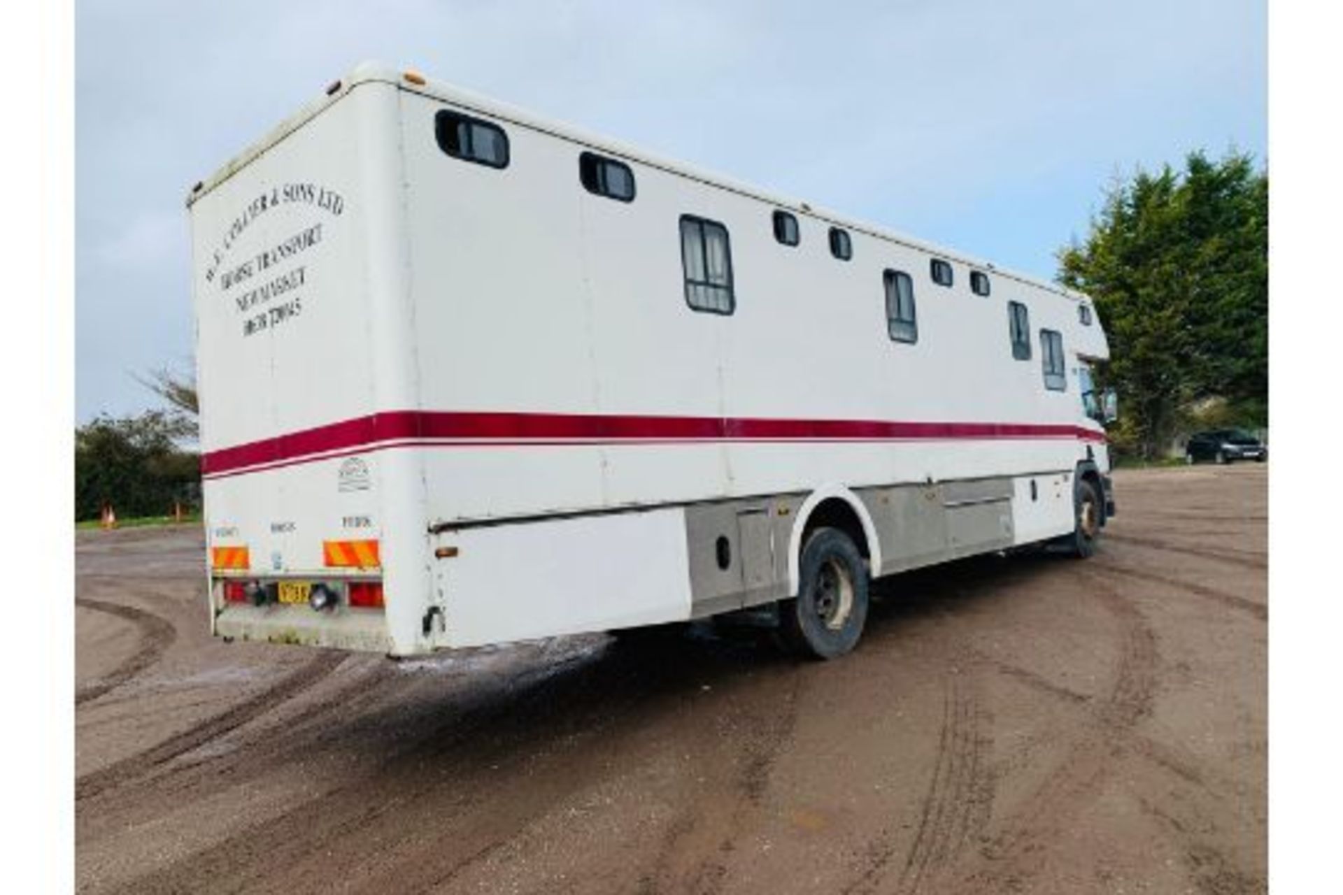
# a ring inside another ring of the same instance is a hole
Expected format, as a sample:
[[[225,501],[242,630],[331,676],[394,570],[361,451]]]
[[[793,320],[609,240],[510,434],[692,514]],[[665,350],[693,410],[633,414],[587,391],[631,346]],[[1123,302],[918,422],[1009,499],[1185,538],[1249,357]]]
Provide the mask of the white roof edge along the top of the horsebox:
[[[991,271],[994,275],[1005,276],[1007,279],[1013,279],[1035,288],[1042,288],[1072,301],[1077,302],[1089,301],[1088,295],[1068,288],[1066,286],[1061,286],[1060,283],[1044,280],[1009,268],[1002,268],[994,264],[992,262],[980,258],[974,258],[960,251],[950,250],[945,246],[928,243],[925,240],[916,239],[907,233],[901,233],[885,227],[878,227],[876,224],[869,224],[861,220],[846,217],[843,215],[835,213],[822,207],[817,207],[811,203],[799,199],[770,193],[757,187],[741,182],[739,180],[735,180],[724,174],[708,172],[688,165],[685,162],[665,158],[655,153],[650,153],[645,149],[631,146],[629,144],[612,140],[610,137],[594,134],[580,127],[575,127],[572,125],[559,123],[553,119],[537,115],[536,113],[520,109],[517,106],[512,106],[506,102],[501,102],[490,97],[485,97],[482,94],[466,90],[463,87],[457,87],[454,85],[447,85],[443,82],[428,79],[424,75],[420,75],[415,70],[395,68],[392,66],[387,66],[380,62],[363,62],[355,66],[348,75],[337,81],[333,81],[330,86],[328,86],[322,97],[318,97],[304,105],[298,111],[287,117],[277,126],[271,127],[271,130],[267,131],[265,137],[255,141],[242,153],[230,158],[210,177],[197,181],[187,195],[187,207],[191,208],[192,204],[195,204],[197,200],[204,197],[212,189],[215,189],[222,182],[228,180],[234,173],[236,173],[238,170],[248,165],[251,161],[258,158],[262,153],[269,150],[271,146],[277,145],[287,136],[302,127],[308,121],[314,118],[326,106],[336,102],[342,95],[352,91],[355,87],[364,83],[387,83],[393,87],[407,90],[410,93],[418,93],[435,99],[442,99],[455,106],[470,109],[473,111],[479,111],[482,114],[488,114],[500,118],[502,121],[510,121],[512,123],[521,125],[525,127],[541,130],[544,133],[549,133],[556,137],[561,137],[564,140],[571,140],[573,142],[599,148],[611,153],[612,156],[629,158],[631,161],[638,161],[643,165],[659,168],[669,173],[680,174],[682,177],[689,177],[692,180],[719,187],[721,189],[728,189],[731,192],[740,193],[743,196],[748,196],[759,201],[778,205],[779,208],[815,217],[838,227],[853,229],[860,233],[866,233],[868,236],[873,236],[876,239],[884,239],[901,246],[907,246],[909,248],[933,254],[940,258],[956,260],[968,267]]]

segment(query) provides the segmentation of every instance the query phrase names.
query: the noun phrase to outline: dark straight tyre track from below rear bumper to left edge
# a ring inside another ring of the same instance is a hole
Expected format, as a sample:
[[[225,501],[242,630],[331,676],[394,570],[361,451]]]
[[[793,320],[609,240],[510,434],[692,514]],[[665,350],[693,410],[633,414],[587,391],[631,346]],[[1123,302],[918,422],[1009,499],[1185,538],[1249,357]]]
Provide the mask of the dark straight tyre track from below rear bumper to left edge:
[[[98,793],[118,786],[153,770],[156,766],[176,758],[197,746],[240,727],[270,711],[286,699],[291,699],[330,674],[345,660],[342,652],[320,652],[305,666],[281,679],[273,687],[244,699],[224,713],[207,718],[204,722],[169,737],[168,739],[113,762],[106,768],[85,774],[75,781],[75,801],[93,798]]]

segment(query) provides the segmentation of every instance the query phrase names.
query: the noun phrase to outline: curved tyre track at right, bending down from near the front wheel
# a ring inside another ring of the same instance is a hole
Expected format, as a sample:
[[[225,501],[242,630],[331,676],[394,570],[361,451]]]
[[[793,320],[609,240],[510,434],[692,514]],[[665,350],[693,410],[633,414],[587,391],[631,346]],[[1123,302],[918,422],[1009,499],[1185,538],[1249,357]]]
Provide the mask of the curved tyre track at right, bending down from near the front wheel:
[[[1156,692],[1156,635],[1139,609],[1105,578],[1082,572],[1101,605],[1120,628],[1112,683],[1097,700],[1093,723],[1068,750],[1064,761],[1026,802],[1002,821],[1001,832],[983,848],[962,878],[958,892],[1021,891],[1044,868],[1049,849],[1066,832],[1076,812],[1111,773],[1124,751],[1121,737],[1152,707]]]

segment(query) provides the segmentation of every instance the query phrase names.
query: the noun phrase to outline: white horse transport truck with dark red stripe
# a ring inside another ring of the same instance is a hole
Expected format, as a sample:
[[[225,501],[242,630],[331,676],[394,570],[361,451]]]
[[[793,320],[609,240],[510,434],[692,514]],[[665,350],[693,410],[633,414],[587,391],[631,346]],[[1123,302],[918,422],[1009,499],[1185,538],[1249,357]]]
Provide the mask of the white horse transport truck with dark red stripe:
[[[1091,302],[364,64],[195,185],[216,636],[393,656],[767,613],[1113,513]]]

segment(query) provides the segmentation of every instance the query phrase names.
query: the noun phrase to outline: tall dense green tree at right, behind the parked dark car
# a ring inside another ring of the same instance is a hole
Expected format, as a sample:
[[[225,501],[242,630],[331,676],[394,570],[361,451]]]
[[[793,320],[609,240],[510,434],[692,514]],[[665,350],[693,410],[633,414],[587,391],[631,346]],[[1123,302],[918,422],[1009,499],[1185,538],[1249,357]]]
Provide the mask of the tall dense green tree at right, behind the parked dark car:
[[[1139,454],[1160,454],[1183,409],[1209,397],[1266,424],[1268,176],[1250,156],[1198,152],[1182,172],[1116,182],[1058,263],[1058,280],[1089,294],[1105,323],[1104,378]]]

